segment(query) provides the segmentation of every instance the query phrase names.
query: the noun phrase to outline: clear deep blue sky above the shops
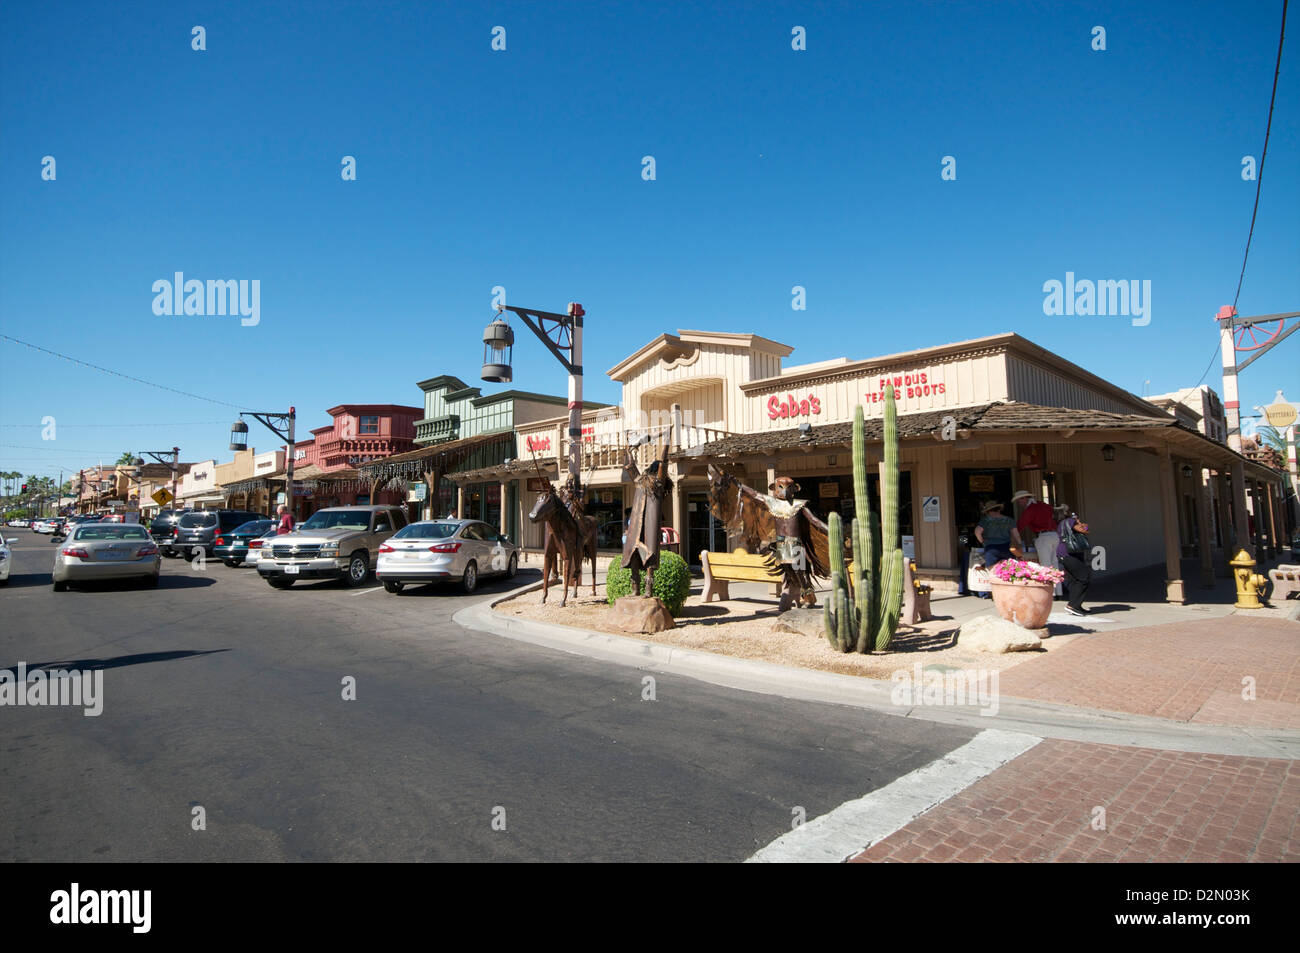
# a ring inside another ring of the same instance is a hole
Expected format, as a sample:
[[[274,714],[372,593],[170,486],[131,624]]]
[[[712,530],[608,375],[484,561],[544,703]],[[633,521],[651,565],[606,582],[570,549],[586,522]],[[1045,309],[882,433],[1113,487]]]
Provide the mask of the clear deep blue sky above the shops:
[[[6,4],[0,321],[243,408],[295,404],[303,434],[338,403],[477,382],[494,285],[582,302],[592,399],[618,400],[603,372],[677,328],[757,332],[789,363],[1014,330],[1138,394],[1190,386],[1236,289],[1280,9]],[[1300,309],[1291,14],[1243,315]],[[260,324],[155,316],[177,270],[260,280]],[[1067,270],[1149,280],[1150,324],[1044,316]],[[563,393],[519,341],[515,386]],[[1300,400],[1297,367],[1300,335],[1247,372],[1243,404]],[[0,341],[0,469],[221,459],[233,417]]]

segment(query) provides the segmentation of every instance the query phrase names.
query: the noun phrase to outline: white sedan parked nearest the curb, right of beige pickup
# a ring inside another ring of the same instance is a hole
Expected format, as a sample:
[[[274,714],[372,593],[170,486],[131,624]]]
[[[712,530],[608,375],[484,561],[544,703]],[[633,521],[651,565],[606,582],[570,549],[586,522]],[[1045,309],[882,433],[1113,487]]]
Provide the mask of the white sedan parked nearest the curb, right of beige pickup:
[[[519,551],[508,537],[478,520],[412,523],[380,546],[374,576],[390,593],[406,585],[459,580],[467,593],[482,576],[514,577]]]

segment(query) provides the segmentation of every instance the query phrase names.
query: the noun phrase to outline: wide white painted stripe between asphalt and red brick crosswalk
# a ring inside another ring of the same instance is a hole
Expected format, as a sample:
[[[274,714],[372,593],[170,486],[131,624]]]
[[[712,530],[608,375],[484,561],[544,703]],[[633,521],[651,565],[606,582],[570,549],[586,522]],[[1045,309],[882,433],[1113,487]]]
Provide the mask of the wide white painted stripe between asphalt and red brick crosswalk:
[[[783,833],[746,863],[842,863],[1041,740],[996,728],[982,731],[926,767]]]

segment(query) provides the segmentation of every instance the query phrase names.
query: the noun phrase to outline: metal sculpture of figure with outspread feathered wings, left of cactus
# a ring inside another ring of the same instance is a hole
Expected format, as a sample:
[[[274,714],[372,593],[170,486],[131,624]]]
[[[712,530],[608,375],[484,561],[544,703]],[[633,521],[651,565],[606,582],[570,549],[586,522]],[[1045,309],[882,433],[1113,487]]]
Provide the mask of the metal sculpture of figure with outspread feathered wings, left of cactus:
[[[757,555],[771,554],[781,566],[780,611],[796,602],[816,605],[812,579],[831,576],[831,540],[827,525],[809,511],[802,501],[793,499],[798,490],[789,477],[780,477],[770,488],[772,495],[715,467],[708,467],[708,508],[728,533]]]

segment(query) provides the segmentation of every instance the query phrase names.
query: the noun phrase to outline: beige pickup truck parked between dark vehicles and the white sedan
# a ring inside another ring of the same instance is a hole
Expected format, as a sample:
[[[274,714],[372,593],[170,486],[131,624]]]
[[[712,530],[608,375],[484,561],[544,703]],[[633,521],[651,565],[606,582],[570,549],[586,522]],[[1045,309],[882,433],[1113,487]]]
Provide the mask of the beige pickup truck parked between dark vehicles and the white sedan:
[[[407,525],[399,506],[333,506],[313,512],[292,533],[264,543],[257,572],[276,589],[299,579],[342,579],[361,585],[380,546]]]

